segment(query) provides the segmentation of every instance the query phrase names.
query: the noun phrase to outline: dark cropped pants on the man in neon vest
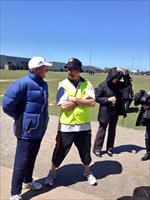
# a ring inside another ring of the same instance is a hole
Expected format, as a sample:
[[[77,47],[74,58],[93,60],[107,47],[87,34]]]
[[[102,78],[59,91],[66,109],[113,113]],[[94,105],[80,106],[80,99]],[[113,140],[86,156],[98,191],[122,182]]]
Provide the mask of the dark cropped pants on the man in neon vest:
[[[52,156],[52,162],[56,167],[59,167],[62,163],[73,143],[79,151],[82,163],[84,165],[90,164],[91,131],[69,133],[59,131],[56,137],[56,146]]]

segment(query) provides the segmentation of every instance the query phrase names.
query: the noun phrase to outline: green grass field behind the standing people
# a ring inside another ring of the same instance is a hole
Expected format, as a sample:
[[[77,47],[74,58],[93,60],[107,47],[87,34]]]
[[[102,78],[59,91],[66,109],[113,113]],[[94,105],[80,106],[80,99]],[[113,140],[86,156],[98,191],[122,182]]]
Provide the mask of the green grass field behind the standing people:
[[[26,75],[27,71],[22,70],[0,70],[0,101],[2,100],[2,95],[4,94],[5,90],[7,89],[8,85],[13,82],[15,79]],[[98,84],[105,80],[107,74],[95,74],[89,75],[88,73],[81,74],[84,78],[87,78],[91,81],[94,87],[98,86]],[[49,114],[51,115],[59,115],[59,108],[55,105],[55,96],[57,91],[58,82],[66,78],[66,72],[48,72],[46,74],[46,80],[49,86],[49,103],[54,104],[49,106]],[[144,89],[146,91],[150,90],[150,77],[148,76],[132,76],[132,83],[134,92],[138,92],[140,89]],[[132,105],[131,105],[132,106]],[[91,119],[92,121],[97,120],[98,114],[98,107],[99,105],[96,104],[94,108],[91,108]],[[128,127],[128,128],[136,128],[135,121],[137,118],[138,113],[129,113],[128,116],[123,120],[122,117],[119,119],[119,125]],[[123,123],[122,123],[123,120]],[[138,127],[139,128],[139,127]],[[141,127],[140,127],[141,128]]]

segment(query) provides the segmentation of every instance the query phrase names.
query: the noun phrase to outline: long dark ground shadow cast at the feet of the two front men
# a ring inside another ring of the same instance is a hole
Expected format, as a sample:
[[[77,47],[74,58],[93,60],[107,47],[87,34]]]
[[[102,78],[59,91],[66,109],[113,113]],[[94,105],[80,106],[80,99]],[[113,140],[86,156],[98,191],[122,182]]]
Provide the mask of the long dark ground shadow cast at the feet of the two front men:
[[[102,179],[111,174],[120,174],[122,172],[122,165],[117,161],[98,161],[91,165],[91,170],[96,179]],[[32,199],[35,196],[47,193],[60,186],[70,186],[78,182],[86,181],[83,176],[83,165],[69,164],[60,167],[57,170],[56,182],[53,187],[44,186],[40,191],[27,191],[22,194],[23,200]],[[37,180],[37,182],[44,184],[45,177]]]

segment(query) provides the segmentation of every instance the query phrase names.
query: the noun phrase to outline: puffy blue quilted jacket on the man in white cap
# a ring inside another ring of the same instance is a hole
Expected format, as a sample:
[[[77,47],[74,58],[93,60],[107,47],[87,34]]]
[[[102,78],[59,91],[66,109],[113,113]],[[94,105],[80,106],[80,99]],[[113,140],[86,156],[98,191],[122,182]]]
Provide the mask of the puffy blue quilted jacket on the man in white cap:
[[[14,134],[25,140],[40,140],[48,124],[48,85],[31,72],[8,87],[3,111],[14,118]]]

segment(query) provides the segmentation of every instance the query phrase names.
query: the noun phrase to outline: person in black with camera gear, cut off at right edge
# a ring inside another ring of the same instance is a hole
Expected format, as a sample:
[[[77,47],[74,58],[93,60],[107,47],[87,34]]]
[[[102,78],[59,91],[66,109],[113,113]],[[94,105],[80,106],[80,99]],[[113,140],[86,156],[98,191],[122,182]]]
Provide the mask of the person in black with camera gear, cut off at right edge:
[[[142,105],[137,117],[136,126],[146,126],[146,153],[141,158],[142,161],[146,161],[150,160],[150,91],[146,93],[144,90],[140,90],[139,93],[135,94],[134,104]]]

